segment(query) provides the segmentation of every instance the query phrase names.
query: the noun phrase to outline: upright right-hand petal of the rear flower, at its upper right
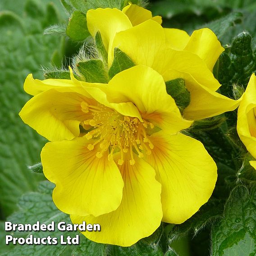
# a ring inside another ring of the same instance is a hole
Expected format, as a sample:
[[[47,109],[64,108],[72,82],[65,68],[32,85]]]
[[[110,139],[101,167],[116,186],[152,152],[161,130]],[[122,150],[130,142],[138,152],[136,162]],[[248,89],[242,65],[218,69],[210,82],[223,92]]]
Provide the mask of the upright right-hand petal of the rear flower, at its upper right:
[[[184,50],[198,55],[206,62],[207,67],[212,70],[224,48],[221,46],[214,32],[209,28],[201,28],[192,33]]]

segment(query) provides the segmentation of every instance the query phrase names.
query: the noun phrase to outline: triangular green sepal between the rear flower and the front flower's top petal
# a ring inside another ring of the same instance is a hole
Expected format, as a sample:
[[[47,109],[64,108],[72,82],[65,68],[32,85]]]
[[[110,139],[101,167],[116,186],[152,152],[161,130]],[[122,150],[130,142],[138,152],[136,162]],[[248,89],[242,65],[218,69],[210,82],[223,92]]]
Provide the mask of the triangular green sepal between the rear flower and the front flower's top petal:
[[[113,78],[117,73],[135,66],[133,60],[119,48],[114,48],[114,60],[109,70],[109,77]]]

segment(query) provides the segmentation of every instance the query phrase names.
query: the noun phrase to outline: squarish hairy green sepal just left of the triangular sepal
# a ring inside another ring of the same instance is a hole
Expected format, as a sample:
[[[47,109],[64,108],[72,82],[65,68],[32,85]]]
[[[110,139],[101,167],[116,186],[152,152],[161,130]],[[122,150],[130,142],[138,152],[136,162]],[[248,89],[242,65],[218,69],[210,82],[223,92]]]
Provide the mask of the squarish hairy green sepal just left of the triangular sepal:
[[[86,82],[108,82],[108,74],[101,59],[90,59],[76,64],[78,72]]]

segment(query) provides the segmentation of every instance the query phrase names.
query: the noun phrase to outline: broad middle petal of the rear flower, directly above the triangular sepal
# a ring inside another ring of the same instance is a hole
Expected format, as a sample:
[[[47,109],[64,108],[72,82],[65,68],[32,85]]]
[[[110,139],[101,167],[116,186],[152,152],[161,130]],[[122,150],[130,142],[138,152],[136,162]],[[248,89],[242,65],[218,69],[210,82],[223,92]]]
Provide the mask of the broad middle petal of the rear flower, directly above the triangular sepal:
[[[116,34],[109,55],[109,65],[114,57],[114,48],[125,52],[135,64],[142,64],[157,70],[162,64],[162,52],[165,49],[164,29],[153,20],[147,20],[136,27]]]

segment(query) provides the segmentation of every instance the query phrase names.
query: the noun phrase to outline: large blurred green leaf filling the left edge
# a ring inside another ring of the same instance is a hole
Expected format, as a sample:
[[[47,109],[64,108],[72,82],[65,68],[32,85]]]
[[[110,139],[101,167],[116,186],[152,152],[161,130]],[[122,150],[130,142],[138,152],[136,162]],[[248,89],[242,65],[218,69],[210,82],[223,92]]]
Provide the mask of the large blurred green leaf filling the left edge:
[[[54,0],[56,3],[58,0]],[[26,16],[26,1],[6,1],[17,9],[19,16],[10,11],[0,14],[0,208],[1,218],[11,214],[17,200],[26,191],[35,190],[37,174],[27,169],[40,161],[40,151],[45,139],[22,122],[18,112],[30,98],[23,90],[28,73],[43,78],[41,65],[49,64],[52,53],[59,48],[60,38],[44,36],[43,20],[46,16],[46,1],[40,2],[42,19]],[[52,1],[53,2],[53,1]],[[2,3],[2,2],[1,2]],[[34,28],[33,28],[34,27]],[[36,28],[35,28],[36,27]]]

